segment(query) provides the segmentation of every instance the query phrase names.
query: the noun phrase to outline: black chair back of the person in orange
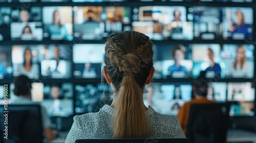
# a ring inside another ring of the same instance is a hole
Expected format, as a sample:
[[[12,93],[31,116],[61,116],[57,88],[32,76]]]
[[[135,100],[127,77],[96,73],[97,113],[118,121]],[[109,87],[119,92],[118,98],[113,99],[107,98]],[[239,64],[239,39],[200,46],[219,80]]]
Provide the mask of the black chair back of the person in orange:
[[[190,106],[186,137],[194,143],[224,143],[229,124],[228,103]]]

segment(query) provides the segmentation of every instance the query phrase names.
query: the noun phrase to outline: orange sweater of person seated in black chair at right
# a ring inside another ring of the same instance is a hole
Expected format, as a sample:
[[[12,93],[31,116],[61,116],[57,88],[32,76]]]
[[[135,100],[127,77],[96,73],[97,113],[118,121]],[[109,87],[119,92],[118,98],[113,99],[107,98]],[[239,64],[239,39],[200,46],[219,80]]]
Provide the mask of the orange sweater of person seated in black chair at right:
[[[214,101],[207,100],[206,98],[201,99],[193,99],[187,103],[185,103],[179,110],[178,118],[180,120],[180,125],[186,135],[187,131],[187,122],[188,122],[188,116],[189,116],[189,110],[191,104],[203,104],[203,103],[215,103]]]

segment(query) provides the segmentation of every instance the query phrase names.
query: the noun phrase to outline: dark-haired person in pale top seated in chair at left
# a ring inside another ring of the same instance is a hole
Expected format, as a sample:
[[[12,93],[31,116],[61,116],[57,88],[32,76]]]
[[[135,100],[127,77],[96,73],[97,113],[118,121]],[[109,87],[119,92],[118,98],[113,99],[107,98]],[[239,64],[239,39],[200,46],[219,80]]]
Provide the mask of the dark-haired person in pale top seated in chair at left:
[[[31,101],[31,80],[24,75],[14,78],[14,94],[17,96],[11,101],[11,104],[36,104]],[[41,121],[47,140],[53,140],[58,135],[58,131],[51,129],[51,120],[47,115],[47,111],[41,106]],[[31,125],[32,126],[32,125]]]

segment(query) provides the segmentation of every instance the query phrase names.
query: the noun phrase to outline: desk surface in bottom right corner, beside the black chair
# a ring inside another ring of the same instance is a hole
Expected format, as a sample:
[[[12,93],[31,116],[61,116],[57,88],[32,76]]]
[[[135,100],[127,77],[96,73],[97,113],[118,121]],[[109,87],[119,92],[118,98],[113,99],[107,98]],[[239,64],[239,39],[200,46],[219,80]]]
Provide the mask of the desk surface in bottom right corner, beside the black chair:
[[[239,130],[239,129],[232,129],[228,130],[227,132],[227,142],[252,142],[256,143],[256,133]]]

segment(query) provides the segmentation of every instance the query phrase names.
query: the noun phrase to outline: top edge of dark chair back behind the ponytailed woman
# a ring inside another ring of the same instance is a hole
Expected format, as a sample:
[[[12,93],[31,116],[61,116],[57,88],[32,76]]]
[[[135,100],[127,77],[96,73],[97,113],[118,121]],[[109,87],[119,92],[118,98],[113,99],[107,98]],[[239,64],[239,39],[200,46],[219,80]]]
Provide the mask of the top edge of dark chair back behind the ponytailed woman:
[[[111,138],[111,139],[77,139],[75,143],[191,143],[191,140],[188,138]]]

